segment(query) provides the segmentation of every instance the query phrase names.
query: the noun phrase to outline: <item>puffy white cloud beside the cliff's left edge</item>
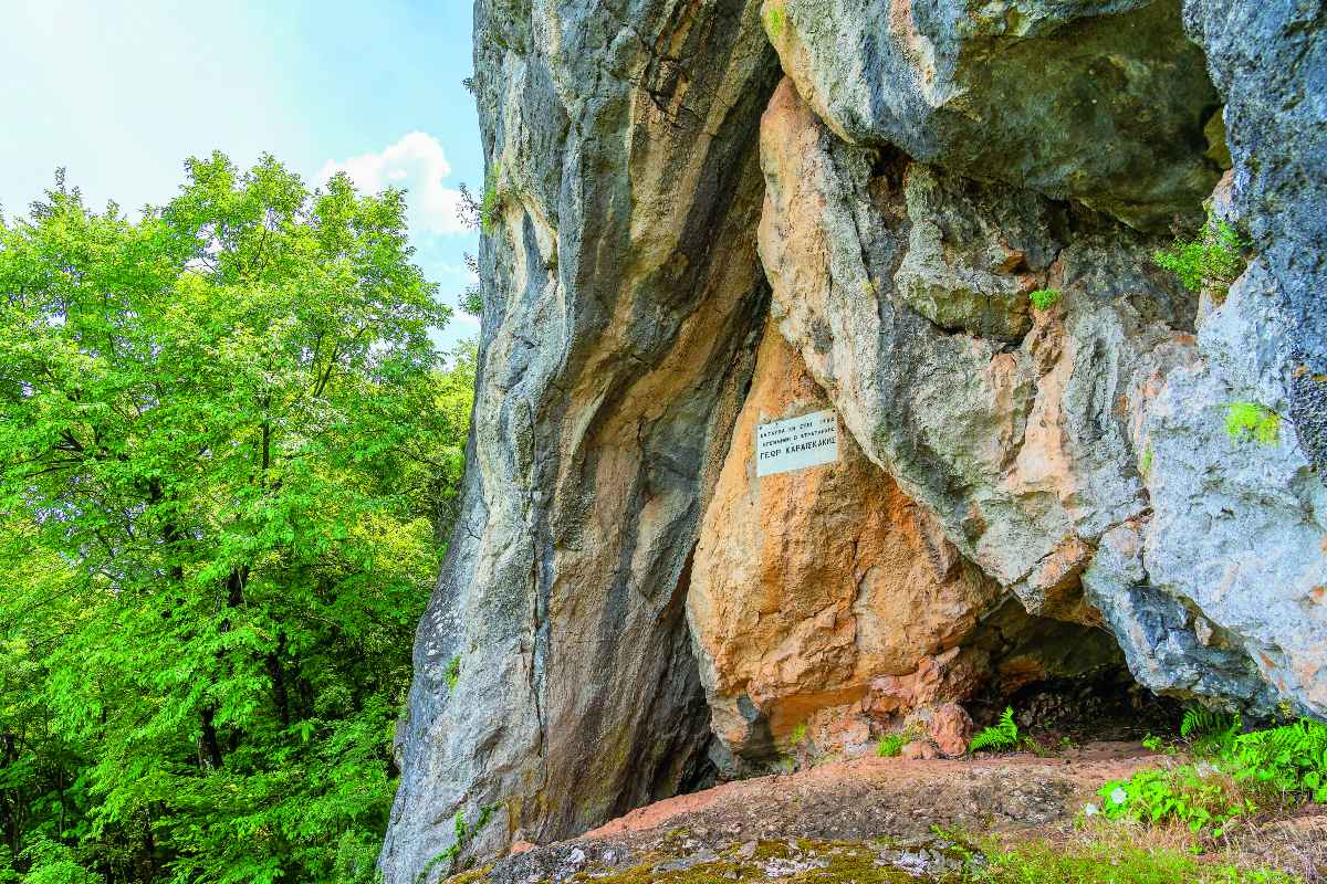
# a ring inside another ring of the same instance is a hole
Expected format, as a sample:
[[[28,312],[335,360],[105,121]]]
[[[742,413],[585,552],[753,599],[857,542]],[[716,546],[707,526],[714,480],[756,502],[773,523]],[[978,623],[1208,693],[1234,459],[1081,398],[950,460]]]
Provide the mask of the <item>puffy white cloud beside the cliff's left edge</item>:
[[[387,187],[409,191],[406,201],[413,231],[470,232],[456,216],[460,191],[442,186],[442,179],[451,175],[451,163],[433,135],[410,133],[377,154],[362,154],[340,163],[328,160],[318,172],[318,180],[326,182],[337,172],[349,175],[364,192],[377,193]]]

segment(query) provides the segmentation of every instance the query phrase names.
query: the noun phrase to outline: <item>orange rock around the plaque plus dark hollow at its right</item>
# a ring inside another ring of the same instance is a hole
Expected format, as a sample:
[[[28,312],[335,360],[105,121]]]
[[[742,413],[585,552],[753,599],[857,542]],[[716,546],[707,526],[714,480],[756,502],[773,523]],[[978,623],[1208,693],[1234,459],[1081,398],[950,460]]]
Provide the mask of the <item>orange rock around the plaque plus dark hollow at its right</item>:
[[[1076,573],[1060,574],[1074,600],[1056,614],[1087,623],[1030,616],[851,433],[840,433],[833,464],[756,476],[758,425],[828,407],[771,323],[687,594],[714,733],[736,757],[733,770],[808,747],[871,751],[881,733],[941,730],[946,714],[962,716],[951,704],[978,692],[1123,663],[1099,618],[1082,610]],[[942,749],[963,751],[962,737]]]

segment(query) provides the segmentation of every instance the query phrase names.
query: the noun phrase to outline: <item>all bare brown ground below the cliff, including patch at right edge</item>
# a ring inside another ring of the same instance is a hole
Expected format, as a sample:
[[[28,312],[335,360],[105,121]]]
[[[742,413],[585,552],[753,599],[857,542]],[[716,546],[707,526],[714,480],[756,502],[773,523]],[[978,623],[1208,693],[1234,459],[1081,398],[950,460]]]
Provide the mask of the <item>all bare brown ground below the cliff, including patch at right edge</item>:
[[[946,839],[1040,839],[1072,850],[1096,839],[1188,851],[1184,830],[1121,830],[1084,806],[1111,779],[1180,763],[1140,744],[1100,742],[1054,757],[857,758],[730,782],[634,810],[556,844],[518,844],[455,884],[725,884],[936,880],[955,871]],[[1097,830],[1093,830],[1097,826]],[[1327,808],[1263,819],[1214,847],[1214,861],[1282,868],[1327,881]],[[751,869],[756,869],[754,873]],[[847,869],[840,877],[836,869]],[[644,869],[644,871],[642,871]]]

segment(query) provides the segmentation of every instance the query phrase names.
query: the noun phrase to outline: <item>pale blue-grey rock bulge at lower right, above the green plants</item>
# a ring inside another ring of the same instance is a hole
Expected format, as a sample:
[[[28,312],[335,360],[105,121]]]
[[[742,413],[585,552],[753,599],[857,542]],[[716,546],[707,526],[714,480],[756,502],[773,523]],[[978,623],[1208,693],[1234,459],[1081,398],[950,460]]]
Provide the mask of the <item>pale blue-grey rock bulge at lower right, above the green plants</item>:
[[[1233,403],[1289,412],[1275,285],[1255,260],[1147,403],[1152,512],[1104,539],[1085,582],[1149,688],[1327,717],[1327,489],[1292,421],[1227,427]]]

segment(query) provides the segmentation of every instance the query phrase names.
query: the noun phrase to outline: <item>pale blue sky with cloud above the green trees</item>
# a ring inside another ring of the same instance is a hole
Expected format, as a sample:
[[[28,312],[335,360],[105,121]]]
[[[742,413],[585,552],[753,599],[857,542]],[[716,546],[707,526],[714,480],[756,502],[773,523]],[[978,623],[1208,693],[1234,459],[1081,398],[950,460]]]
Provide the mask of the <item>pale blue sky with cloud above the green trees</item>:
[[[425,273],[470,282],[456,186],[482,190],[468,0],[0,0],[0,207],[57,166],[94,205],[165,203],[183,160],[268,151],[309,183],[337,168],[406,187]],[[456,311],[443,346],[478,333]]]

